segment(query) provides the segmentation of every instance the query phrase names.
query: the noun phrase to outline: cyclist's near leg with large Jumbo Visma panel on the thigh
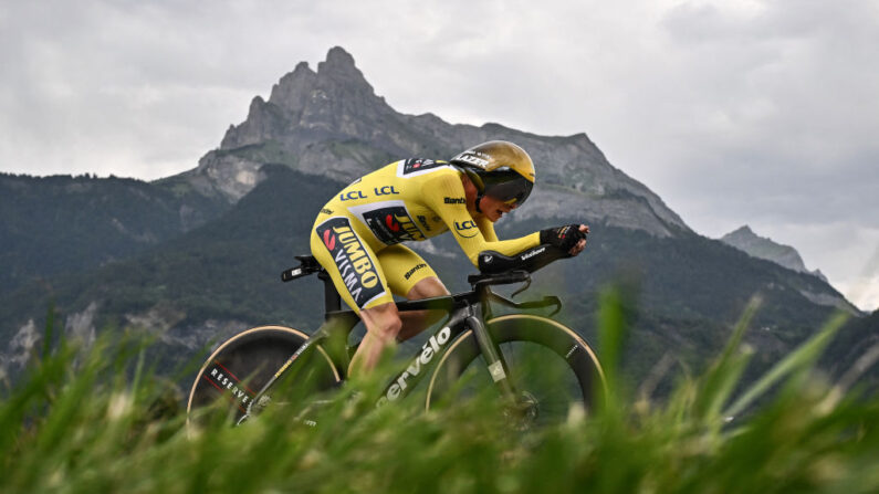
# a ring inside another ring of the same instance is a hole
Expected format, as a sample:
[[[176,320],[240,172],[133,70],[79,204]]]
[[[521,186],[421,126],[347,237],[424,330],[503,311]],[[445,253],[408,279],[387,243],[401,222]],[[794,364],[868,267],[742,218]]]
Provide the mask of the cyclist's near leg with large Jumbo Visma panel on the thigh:
[[[345,217],[317,217],[311,235],[312,254],[329,273],[342,299],[366,326],[349,375],[372,370],[386,347],[395,345],[400,318],[378,257]]]

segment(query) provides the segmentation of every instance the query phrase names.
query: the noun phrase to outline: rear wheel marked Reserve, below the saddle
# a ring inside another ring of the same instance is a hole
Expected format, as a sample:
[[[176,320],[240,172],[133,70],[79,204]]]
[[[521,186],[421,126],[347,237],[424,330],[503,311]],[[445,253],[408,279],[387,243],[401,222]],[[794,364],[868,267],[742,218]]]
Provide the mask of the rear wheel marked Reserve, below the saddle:
[[[285,326],[254,327],[223,341],[206,359],[196,375],[187,402],[187,424],[219,420],[237,423],[249,400],[265,386],[287,358],[308,339],[308,335]],[[297,376],[308,382],[303,393],[331,388],[342,378],[327,353],[316,347],[317,358],[310,362],[308,375]],[[226,404],[223,404],[226,402]]]

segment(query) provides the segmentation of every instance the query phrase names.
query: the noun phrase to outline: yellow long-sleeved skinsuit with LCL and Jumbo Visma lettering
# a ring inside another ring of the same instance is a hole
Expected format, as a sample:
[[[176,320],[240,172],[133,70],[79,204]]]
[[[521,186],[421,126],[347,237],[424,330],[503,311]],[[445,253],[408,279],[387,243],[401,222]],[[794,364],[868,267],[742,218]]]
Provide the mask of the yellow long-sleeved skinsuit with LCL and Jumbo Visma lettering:
[[[410,158],[366,175],[322,209],[311,235],[312,254],[355,311],[405,296],[433,270],[401,242],[451,231],[473,265],[491,250],[515,255],[540,244],[540,233],[498,240],[483,214],[467,210],[462,172],[446,161]]]

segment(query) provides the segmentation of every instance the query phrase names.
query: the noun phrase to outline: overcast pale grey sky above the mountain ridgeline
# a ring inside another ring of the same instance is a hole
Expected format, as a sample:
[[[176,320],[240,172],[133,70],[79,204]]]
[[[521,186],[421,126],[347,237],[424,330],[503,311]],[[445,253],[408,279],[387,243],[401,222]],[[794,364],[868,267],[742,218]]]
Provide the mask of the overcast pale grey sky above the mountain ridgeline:
[[[397,111],[585,132],[698,232],[879,307],[879,1],[4,1],[0,171],[193,168],[334,45]]]

